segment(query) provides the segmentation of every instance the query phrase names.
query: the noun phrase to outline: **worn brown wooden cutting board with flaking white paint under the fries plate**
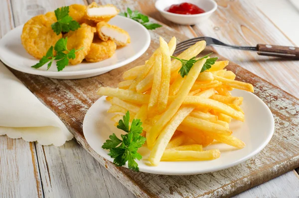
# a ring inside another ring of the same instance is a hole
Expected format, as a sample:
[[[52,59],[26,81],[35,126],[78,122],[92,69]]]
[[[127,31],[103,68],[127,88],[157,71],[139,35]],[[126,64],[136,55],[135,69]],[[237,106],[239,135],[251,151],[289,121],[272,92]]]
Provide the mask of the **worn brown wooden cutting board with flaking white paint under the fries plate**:
[[[11,71],[41,102],[60,117],[78,143],[137,197],[230,197],[299,167],[299,100],[232,62],[227,68],[236,73],[238,80],[254,85],[255,94],[269,106],[276,122],[272,140],[254,158],[214,173],[163,176],[116,168],[95,153],[83,136],[82,123],[89,107],[99,98],[96,95],[97,89],[101,86],[116,87],[122,80],[122,73],[125,70],[143,64],[158,47],[160,35],[166,41],[171,36],[176,36],[178,42],[186,39],[184,35],[165,25],[150,31],[150,35],[152,39],[150,47],[141,58],[100,76],[79,80],[57,80],[12,69]],[[214,56],[225,59],[216,53]]]

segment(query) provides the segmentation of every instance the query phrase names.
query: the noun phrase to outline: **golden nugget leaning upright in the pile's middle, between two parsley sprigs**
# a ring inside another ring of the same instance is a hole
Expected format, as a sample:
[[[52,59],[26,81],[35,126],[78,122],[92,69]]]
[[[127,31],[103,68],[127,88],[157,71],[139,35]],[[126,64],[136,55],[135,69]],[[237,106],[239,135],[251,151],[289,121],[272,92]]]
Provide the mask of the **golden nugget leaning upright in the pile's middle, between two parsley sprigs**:
[[[75,53],[76,57],[74,59],[69,60],[72,65],[81,63],[90,50],[90,45],[94,37],[93,27],[86,23],[82,23],[79,29],[75,31],[69,31],[64,36],[68,38],[67,48],[69,50],[77,50],[83,47],[81,50]]]

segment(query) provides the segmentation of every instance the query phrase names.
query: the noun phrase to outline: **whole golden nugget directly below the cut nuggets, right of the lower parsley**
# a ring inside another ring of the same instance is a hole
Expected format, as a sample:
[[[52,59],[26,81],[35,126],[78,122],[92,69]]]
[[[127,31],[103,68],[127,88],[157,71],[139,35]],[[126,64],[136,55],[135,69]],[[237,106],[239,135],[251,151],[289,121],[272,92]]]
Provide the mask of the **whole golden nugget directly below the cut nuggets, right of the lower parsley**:
[[[102,41],[95,39],[90,46],[90,51],[85,56],[88,62],[99,62],[113,56],[116,50],[116,44],[113,40]]]

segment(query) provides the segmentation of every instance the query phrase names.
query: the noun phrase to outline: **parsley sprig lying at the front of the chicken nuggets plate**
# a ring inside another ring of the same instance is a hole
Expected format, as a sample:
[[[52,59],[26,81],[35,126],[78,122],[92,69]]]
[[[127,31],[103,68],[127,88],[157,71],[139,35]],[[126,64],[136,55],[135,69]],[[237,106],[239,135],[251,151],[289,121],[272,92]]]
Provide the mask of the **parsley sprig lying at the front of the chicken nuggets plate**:
[[[47,70],[48,70],[51,67],[53,61],[57,60],[56,62],[57,70],[61,71],[65,68],[65,66],[68,65],[69,59],[74,59],[76,57],[75,52],[81,49],[83,49],[83,47],[77,50],[75,49],[69,50],[67,48],[67,37],[60,38],[54,46],[54,50],[56,51],[56,56],[53,55],[53,46],[51,46],[48,49],[46,55],[43,56],[38,63],[36,63],[31,67],[37,69],[43,66],[44,64],[48,63],[47,64]]]

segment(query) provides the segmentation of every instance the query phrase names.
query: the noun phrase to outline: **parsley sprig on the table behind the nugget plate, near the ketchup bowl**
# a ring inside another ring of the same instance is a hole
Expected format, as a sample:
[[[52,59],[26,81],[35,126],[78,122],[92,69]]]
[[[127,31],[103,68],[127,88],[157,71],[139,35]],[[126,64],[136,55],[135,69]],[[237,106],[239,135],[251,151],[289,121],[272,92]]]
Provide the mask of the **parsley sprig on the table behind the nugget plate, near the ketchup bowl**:
[[[132,11],[129,7],[127,8],[127,12],[121,12],[119,15],[136,20],[137,22],[145,26],[147,29],[155,29],[162,26],[158,23],[149,22],[149,16],[140,13],[138,10]]]

